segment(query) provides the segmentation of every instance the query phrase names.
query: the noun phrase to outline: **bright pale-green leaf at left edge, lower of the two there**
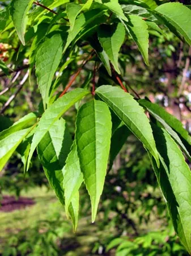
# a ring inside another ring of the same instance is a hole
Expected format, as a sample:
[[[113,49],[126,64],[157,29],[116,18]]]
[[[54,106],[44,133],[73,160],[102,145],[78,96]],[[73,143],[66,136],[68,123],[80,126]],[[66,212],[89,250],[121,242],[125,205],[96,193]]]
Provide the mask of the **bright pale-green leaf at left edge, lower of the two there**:
[[[5,166],[11,155],[14,153],[19,144],[27,136],[31,128],[15,131],[0,141],[0,171]]]

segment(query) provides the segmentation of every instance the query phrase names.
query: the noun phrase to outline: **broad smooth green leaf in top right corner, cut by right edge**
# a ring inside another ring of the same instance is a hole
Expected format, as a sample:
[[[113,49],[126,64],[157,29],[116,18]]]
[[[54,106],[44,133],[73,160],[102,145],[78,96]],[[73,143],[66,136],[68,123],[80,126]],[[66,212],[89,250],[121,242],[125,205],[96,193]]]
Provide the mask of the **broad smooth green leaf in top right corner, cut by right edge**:
[[[160,16],[185,38],[191,46],[190,16],[191,10],[182,3],[164,3],[155,9]],[[167,23],[166,23],[167,24]],[[168,24],[167,24],[168,26]],[[169,27],[169,29],[171,29]]]

